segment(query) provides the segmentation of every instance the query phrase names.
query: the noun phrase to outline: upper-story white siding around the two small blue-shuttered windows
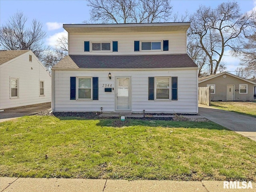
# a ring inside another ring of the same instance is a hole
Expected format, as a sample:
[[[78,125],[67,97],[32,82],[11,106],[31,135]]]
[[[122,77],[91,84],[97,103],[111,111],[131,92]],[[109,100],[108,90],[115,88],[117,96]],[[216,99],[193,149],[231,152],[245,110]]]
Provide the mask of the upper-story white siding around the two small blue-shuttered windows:
[[[161,37],[161,39],[159,39]],[[165,33],[127,33],[127,34],[68,34],[68,54],[72,55],[97,55],[99,51],[84,52],[84,41],[91,42],[111,42],[118,41],[118,52],[100,51],[101,55],[134,55],[142,54],[142,51],[134,52],[134,41],[159,42],[169,40],[168,51],[151,50],[144,51],[143,54],[185,54],[186,53],[186,32],[165,32]],[[161,43],[161,49],[162,49]]]

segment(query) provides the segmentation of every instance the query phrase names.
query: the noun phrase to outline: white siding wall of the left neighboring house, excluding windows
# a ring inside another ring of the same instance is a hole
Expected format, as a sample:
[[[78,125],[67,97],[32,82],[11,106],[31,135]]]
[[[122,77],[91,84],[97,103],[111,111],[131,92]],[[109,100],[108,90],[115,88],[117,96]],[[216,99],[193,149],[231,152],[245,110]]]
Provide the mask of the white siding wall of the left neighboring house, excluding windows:
[[[10,77],[18,78],[18,98],[15,99],[10,98]],[[40,96],[40,80],[44,81],[45,96]],[[32,52],[0,65],[0,109],[45,102],[51,102],[51,76]]]

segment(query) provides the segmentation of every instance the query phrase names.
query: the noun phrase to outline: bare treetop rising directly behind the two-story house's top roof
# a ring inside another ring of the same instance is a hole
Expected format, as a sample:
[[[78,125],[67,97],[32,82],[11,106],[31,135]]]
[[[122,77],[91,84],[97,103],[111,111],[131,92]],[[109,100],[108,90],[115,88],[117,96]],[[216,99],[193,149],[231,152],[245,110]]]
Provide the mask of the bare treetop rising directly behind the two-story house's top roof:
[[[167,21],[170,0],[87,0],[94,23],[152,23]],[[85,21],[86,22],[86,21]]]

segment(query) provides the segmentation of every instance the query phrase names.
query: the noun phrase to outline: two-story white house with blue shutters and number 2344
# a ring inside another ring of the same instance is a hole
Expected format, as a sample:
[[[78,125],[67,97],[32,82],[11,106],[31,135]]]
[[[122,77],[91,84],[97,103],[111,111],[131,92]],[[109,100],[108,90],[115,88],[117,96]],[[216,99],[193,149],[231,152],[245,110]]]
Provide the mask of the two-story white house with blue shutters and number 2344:
[[[190,22],[63,27],[69,55],[52,68],[52,110],[198,112]]]

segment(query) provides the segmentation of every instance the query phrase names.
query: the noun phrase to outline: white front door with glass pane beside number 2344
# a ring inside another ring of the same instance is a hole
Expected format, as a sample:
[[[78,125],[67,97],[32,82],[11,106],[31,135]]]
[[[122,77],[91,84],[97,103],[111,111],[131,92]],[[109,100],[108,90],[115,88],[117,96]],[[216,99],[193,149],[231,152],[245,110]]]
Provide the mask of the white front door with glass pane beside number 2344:
[[[130,111],[130,77],[116,78],[116,110]]]

